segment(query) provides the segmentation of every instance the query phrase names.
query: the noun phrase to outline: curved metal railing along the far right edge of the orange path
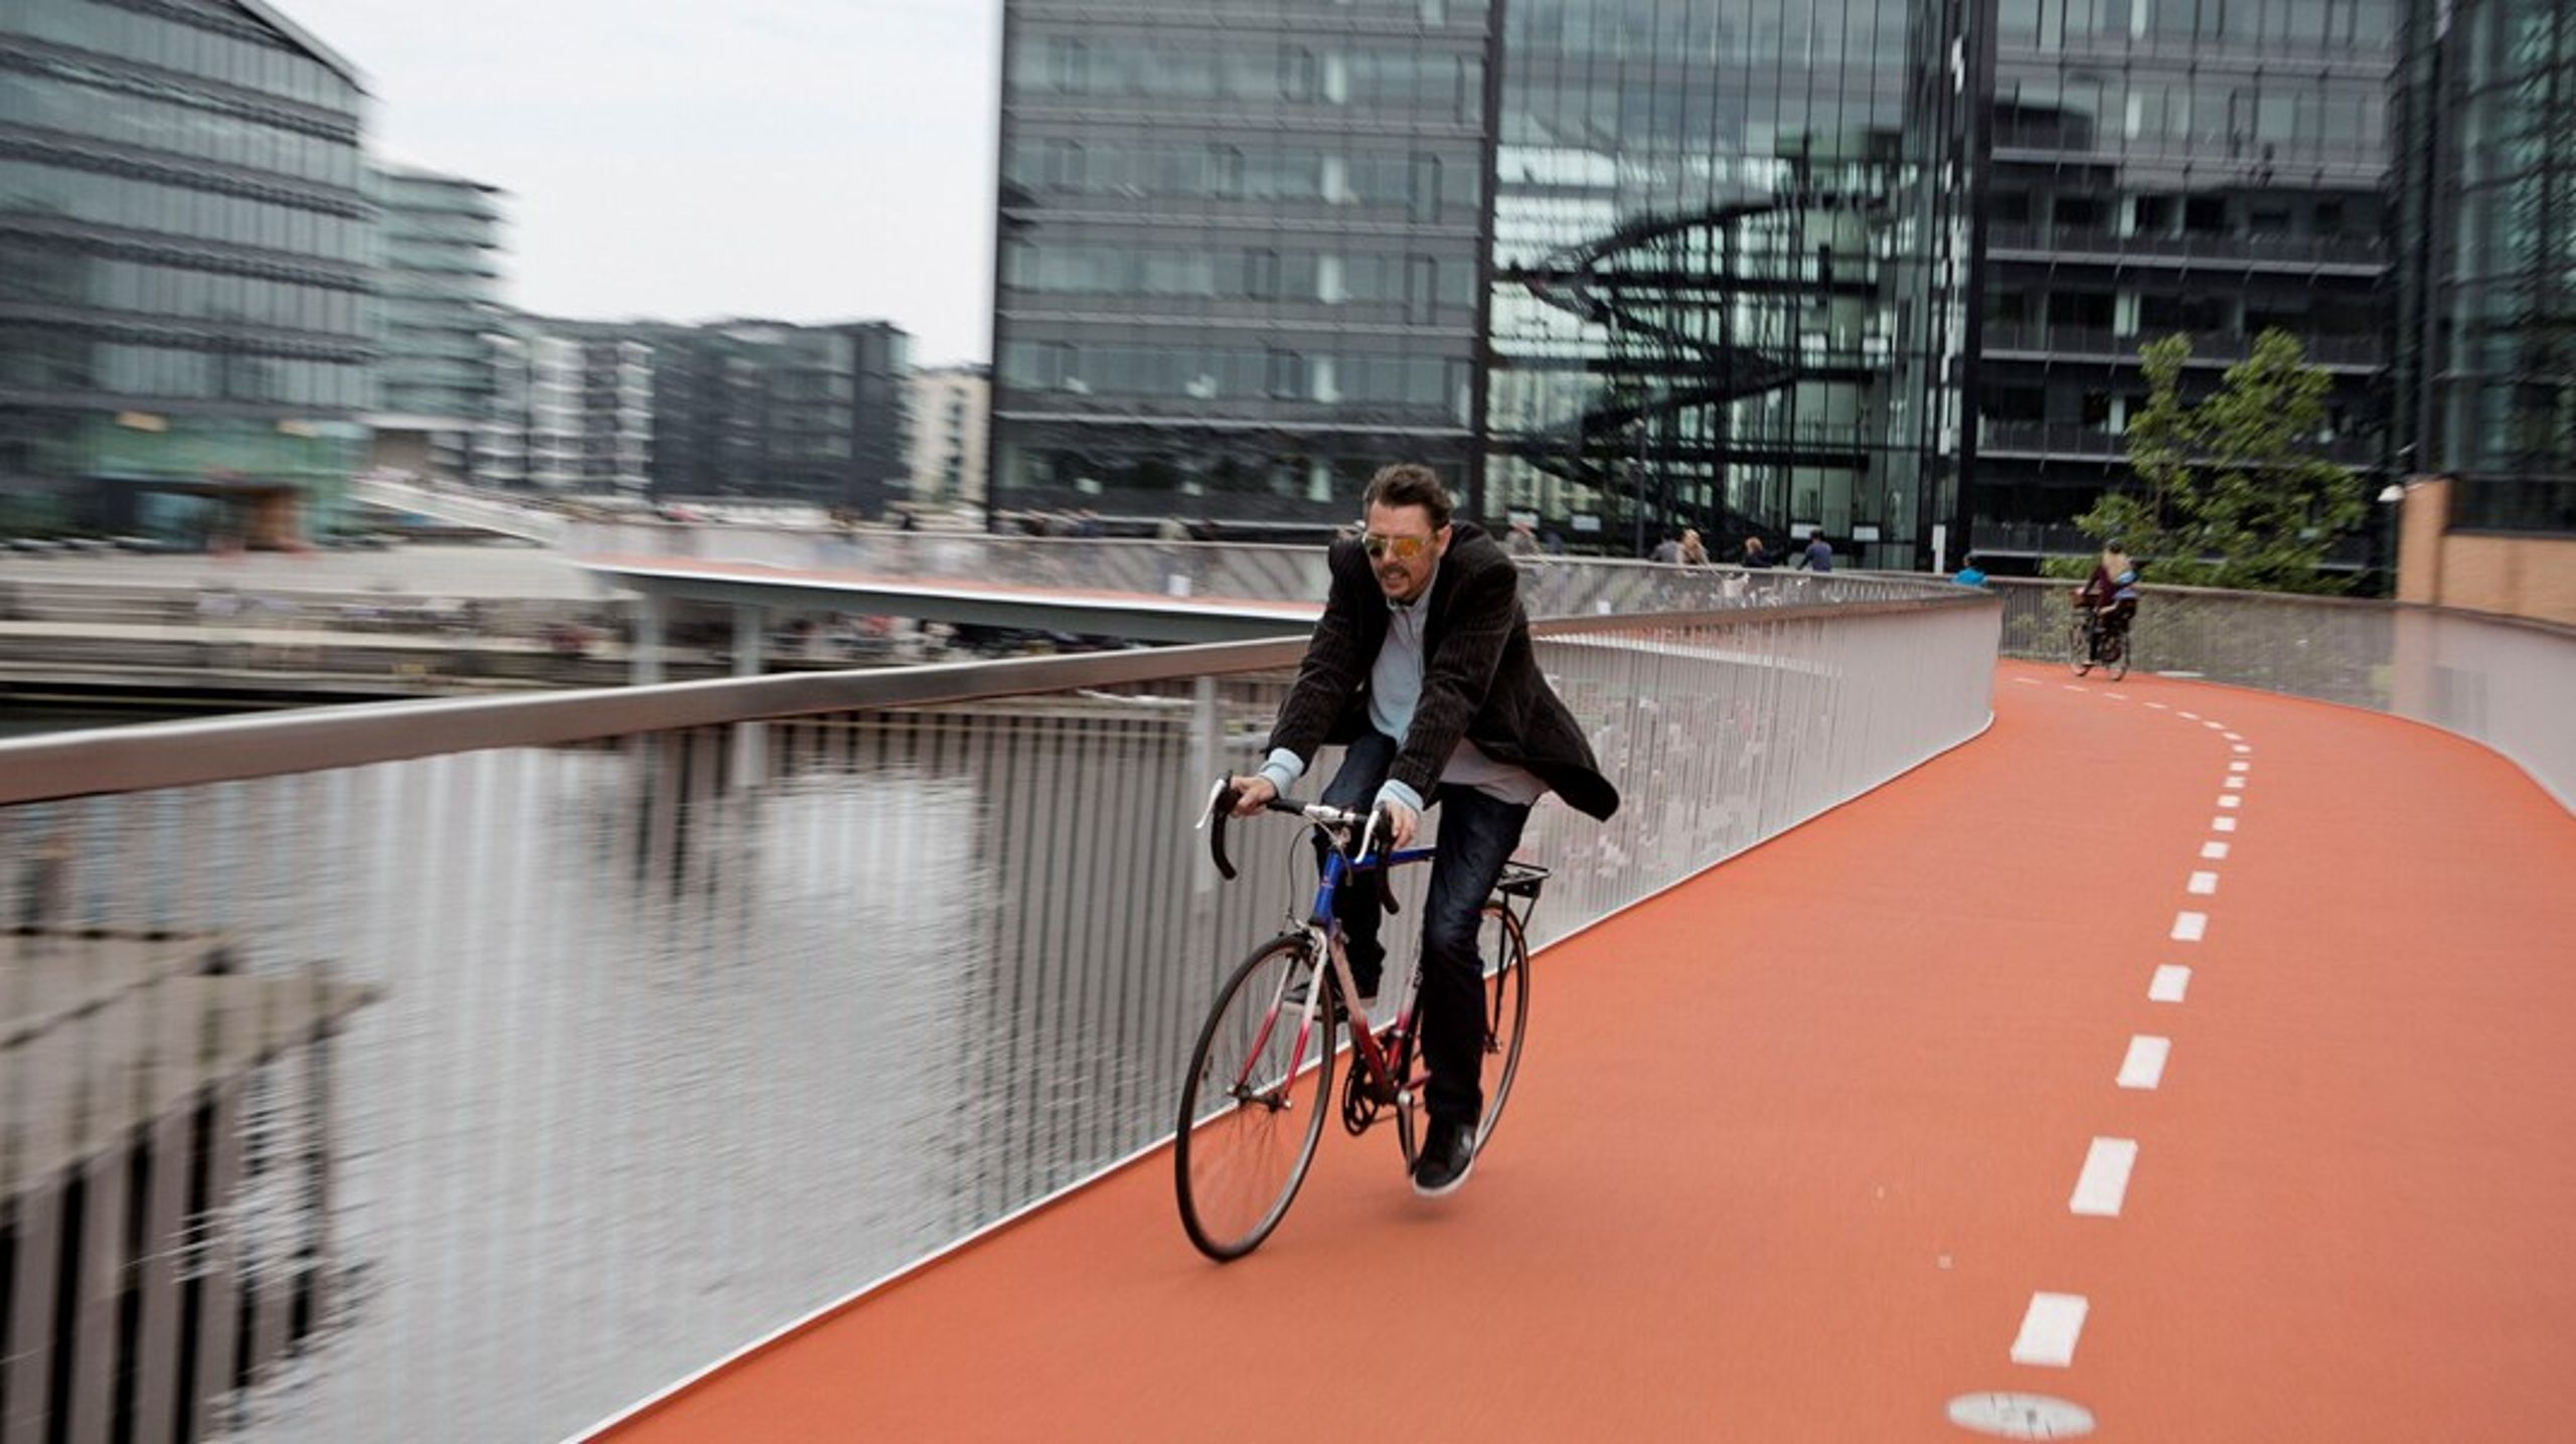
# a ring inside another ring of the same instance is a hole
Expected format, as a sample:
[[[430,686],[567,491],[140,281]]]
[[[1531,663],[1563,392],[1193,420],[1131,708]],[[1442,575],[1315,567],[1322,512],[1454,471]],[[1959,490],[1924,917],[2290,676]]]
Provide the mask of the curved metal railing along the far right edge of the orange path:
[[[2066,656],[2071,582],[1999,579],[2004,654]],[[2481,741],[2576,808],[2576,628],[2349,597],[2141,587],[2130,656]]]

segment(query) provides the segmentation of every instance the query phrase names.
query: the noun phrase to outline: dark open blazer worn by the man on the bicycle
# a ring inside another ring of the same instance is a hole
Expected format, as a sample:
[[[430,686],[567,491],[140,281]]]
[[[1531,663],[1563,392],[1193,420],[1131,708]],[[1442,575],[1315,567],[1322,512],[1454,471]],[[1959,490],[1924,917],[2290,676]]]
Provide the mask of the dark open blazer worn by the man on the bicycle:
[[[1316,746],[1360,736],[1368,728],[1368,669],[1383,643],[1386,592],[1358,538],[1340,538],[1332,543],[1332,597],[1270,728],[1270,746],[1311,764]],[[1473,523],[1453,525],[1440,559],[1430,615],[1422,618],[1422,703],[1388,775],[1430,798],[1461,736],[1494,762],[1528,767],[1579,813],[1607,819],[1618,811],[1618,788],[1602,777],[1574,713],[1538,672],[1530,618],[1520,610],[1520,569]]]

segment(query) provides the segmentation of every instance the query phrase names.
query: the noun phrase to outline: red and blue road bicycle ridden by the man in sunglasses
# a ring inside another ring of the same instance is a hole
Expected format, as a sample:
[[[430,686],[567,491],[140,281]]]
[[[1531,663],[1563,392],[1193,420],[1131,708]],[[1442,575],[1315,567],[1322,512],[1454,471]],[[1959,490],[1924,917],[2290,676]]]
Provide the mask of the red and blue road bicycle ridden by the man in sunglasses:
[[[1226,857],[1226,821],[1236,795],[1224,777],[1208,793],[1208,852],[1216,870],[1234,880]],[[1180,1194],[1180,1225],[1190,1243],[1216,1261],[1242,1259],[1260,1248],[1288,1217],[1306,1169],[1324,1135],[1319,1099],[1332,1099],[1340,1024],[1350,1022],[1350,1076],[1340,1091],[1342,1130],[1352,1138],[1394,1115],[1404,1169],[1419,1151],[1417,1112],[1427,1073],[1414,1071],[1419,1045],[1414,1001],[1422,994],[1422,958],[1414,955],[1404,988],[1378,999],[1391,1022],[1368,1017],[1358,1001],[1334,896],[1355,875],[1391,873],[1437,855],[1432,847],[1376,849],[1378,819],[1321,803],[1273,798],[1265,811],[1303,819],[1324,837],[1324,870],[1314,906],[1303,919],[1291,914],[1291,929],[1262,942],[1218,988],[1208,1022],[1190,1050],[1190,1073],[1180,1089],[1180,1125],[1172,1148],[1172,1181]],[[1358,834],[1358,849],[1352,837]],[[1530,1019],[1528,921],[1548,870],[1510,862],[1484,903],[1476,952],[1484,970],[1484,1117],[1476,1122],[1476,1148],[1494,1135],[1502,1104],[1512,1097],[1520,1071],[1520,1045]],[[1381,891],[1388,914],[1394,891]],[[1515,911],[1517,909],[1517,911]],[[1329,963],[1329,965],[1327,965]]]

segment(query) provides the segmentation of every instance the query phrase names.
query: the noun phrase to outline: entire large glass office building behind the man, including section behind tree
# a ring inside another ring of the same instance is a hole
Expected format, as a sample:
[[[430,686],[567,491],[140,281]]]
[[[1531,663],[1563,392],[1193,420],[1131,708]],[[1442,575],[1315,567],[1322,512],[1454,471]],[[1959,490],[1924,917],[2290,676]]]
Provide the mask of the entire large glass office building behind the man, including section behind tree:
[[[1587,551],[2030,566],[2141,345],[2197,396],[2275,327],[2370,471],[2403,3],[1015,0],[997,504],[1342,520],[1432,456]]]

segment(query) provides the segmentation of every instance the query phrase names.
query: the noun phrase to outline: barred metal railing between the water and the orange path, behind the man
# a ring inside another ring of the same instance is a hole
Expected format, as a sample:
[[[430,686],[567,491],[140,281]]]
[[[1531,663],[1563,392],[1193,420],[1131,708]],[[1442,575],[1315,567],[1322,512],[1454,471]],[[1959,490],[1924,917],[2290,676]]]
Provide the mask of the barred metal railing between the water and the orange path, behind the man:
[[[1543,625],[1625,806],[1540,803],[1533,942],[1973,736],[1996,625]],[[559,1436],[1154,1145],[1301,646],[0,744],[5,1434]]]

